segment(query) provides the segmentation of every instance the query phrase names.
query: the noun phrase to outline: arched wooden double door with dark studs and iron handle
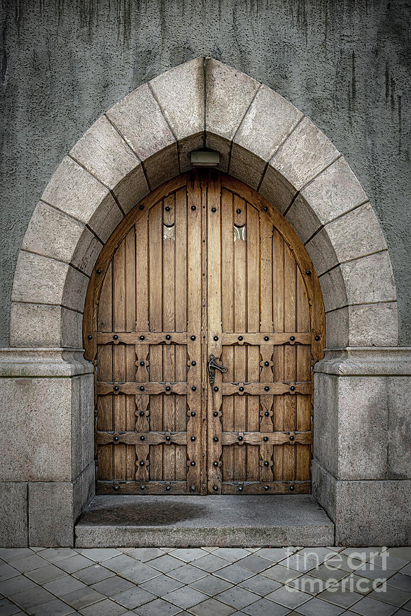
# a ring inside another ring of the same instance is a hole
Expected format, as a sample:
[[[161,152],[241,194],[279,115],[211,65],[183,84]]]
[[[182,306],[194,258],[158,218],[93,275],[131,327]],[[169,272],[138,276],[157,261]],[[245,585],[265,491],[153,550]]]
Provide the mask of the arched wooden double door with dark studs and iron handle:
[[[324,334],[310,258],[260,195],[216,170],[155,190],[86,298],[97,492],[309,493]]]

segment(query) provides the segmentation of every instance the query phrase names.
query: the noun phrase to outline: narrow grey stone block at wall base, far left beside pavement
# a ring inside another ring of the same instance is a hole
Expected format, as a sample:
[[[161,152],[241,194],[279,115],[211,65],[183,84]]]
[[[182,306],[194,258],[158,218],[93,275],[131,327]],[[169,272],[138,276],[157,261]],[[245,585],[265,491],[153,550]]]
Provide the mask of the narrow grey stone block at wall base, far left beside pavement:
[[[28,546],[27,483],[0,483],[0,546]]]

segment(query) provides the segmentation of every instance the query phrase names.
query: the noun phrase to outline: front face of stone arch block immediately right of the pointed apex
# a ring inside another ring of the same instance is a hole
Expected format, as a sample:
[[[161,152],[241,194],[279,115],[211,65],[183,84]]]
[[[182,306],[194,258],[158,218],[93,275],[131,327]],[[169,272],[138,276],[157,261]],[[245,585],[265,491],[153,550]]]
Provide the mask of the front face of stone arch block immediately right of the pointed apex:
[[[206,132],[232,141],[258,88],[256,79],[206,58]]]

